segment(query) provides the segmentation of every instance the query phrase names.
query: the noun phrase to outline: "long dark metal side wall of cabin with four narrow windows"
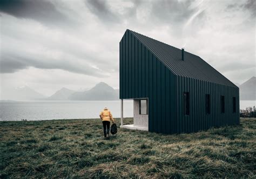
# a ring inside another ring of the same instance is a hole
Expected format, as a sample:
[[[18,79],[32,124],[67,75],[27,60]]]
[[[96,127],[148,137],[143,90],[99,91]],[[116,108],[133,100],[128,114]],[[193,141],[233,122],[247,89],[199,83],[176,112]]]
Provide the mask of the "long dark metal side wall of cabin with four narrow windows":
[[[239,124],[239,88],[176,77],[177,133],[191,133],[211,127]],[[190,94],[190,115],[184,115],[184,92]],[[210,94],[210,114],[206,114],[206,94]],[[225,113],[220,111],[220,96],[225,97]],[[233,113],[232,98],[236,98]]]

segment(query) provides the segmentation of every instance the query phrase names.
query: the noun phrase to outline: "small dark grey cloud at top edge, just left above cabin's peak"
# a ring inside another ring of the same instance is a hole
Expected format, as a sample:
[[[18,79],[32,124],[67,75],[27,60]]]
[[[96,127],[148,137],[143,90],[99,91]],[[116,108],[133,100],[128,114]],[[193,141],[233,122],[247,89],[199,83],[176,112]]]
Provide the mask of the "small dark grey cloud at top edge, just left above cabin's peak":
[[[120,19],[115,15],[104,0],[86,0],[85,5],[95,14],[100,20],[107,22],[120,22]]]

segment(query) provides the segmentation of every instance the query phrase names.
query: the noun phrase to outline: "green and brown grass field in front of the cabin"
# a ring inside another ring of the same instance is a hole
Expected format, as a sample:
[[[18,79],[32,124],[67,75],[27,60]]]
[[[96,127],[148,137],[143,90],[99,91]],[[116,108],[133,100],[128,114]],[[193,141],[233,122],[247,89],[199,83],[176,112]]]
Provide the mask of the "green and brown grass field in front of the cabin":
[[[99,119],[1,121],[4,177],[255,178],[256,119],[193,134],[119,129],[110,140]]]

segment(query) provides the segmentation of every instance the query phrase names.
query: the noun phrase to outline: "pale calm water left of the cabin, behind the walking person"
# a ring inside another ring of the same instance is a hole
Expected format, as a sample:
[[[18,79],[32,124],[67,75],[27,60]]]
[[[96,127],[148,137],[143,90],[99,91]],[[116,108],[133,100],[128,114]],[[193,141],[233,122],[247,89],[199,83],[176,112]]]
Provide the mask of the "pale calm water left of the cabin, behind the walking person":
[[[0,101],[0,121],[91,119],[108,107],[120,118],[120,101]],[[133,101],[124,100],[124,117],[133,116]]]

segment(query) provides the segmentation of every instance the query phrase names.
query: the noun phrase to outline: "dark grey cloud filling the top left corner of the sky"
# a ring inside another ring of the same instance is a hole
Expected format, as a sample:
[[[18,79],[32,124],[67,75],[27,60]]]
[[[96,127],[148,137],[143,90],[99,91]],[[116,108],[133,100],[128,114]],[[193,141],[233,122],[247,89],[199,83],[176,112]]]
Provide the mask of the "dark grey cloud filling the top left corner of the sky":
[[[0,11],[17,18],[33,19],[54,26],[69,21],[69,18],[58,11],[52,2],[45,0],[2,0]]]

